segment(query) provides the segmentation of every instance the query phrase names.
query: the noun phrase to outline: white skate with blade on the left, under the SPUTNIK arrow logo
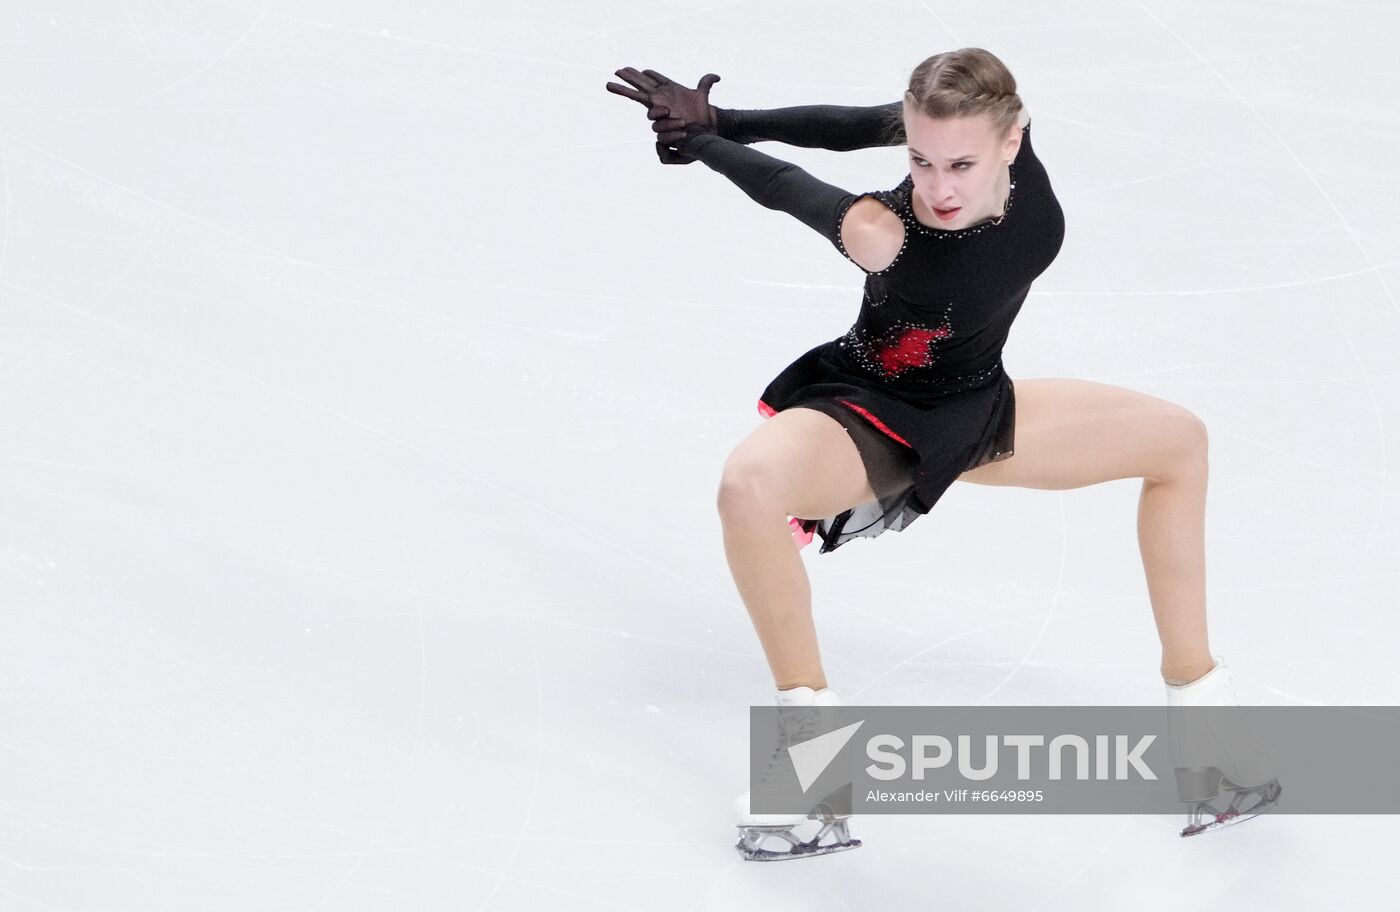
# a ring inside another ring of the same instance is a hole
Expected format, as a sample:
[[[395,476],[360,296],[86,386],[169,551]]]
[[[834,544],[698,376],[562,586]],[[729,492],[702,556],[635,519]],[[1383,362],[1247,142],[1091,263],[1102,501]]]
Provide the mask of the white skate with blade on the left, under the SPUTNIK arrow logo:
[[[830,688],[813,691],[809,686],[799,686],[791,691],[778,691],[777,705],[811,709],[783,713],[778,745],[773,756],[769,758],[760,782],[767,780],[778,769],[784,772],[792,769],[792,759],[787,748],[820,734],[823,728],[820,724],[823,721],[822,707],[840,706],[841,698]],[[825,726],[825,728],[829,730],[830,726]],[[846,789],[850,786],[847,785]],[[749,810],[749,793],[745,792],[734,801],[734,818],[739,827],[739,842],[734,848],[749,862],[785,862],[858,848],[861,841],[851,839],[846,827],[846,821],[851,815],[834,813],[829,804],[832,797],[816,799],[812,810],[806,814],[755,814]],[[846,796],[841,807],[850,807],[850,796]],[[794,831],[808,821],[818,821],[815,835],[802,839]],[[823,843],[822,841],[827,836],[830,841]],[[762,843],[770,838],[780,841],[777,849],[762,848]]]

